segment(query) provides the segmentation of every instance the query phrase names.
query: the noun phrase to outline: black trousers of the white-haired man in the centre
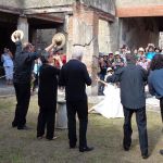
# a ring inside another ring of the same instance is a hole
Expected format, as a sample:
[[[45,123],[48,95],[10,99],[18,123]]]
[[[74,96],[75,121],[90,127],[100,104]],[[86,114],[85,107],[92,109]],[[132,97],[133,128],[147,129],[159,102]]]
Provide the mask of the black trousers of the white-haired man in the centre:
[[[87,147],[87,124],[88,124],[88,104],[85,101],[66,101],[67,120],[68,120],[68,139],[70,147],[76,145],[76,113],[79,120],[79,148]]]

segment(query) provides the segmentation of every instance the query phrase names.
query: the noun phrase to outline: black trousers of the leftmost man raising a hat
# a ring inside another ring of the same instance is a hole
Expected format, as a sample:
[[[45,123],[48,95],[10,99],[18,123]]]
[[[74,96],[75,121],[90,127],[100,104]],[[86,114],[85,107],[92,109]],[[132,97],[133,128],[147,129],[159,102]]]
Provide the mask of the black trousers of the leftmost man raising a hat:
[[[14,83],[14,88],[17,103],[15,109],[15,117],[12,125],[17,126],[17,128],[23,128],[26,124],[26,114],[28,111],[30,100],[30,83]]]

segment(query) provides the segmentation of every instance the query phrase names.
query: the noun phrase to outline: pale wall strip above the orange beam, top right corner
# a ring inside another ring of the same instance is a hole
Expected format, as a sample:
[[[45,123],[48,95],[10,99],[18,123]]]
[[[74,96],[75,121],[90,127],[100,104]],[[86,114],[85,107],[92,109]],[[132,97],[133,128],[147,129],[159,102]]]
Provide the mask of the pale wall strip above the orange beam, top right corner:
[[[163,4],[163,0],[116,0],[116,8],[159,4]]]

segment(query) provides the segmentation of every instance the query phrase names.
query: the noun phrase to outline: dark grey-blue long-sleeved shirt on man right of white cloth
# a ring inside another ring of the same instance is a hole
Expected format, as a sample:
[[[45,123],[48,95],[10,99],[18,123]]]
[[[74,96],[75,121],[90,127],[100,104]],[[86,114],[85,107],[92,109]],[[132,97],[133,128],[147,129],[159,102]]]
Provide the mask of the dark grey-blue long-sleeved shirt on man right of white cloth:
[[[121,102],[125,108],[141,109],[146,106],[145,83],[147,77],[148,72],[140,65],[128,64],[109,76],[106,82],[120,82]]]

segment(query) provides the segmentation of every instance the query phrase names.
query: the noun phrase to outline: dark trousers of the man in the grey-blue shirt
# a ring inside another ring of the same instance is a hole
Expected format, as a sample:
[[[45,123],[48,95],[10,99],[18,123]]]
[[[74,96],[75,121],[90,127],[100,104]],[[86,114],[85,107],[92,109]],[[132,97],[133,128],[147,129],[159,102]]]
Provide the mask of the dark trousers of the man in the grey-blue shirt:
[[[136,122],[139,131],[139,143],[141,154],[148,153],[148,135],[147,135],[147,117],[146,117],[146,108],[138,110],[131,110],[124,106],[124,147],[129,148],[131,145],[131,115],[136,113]]]

